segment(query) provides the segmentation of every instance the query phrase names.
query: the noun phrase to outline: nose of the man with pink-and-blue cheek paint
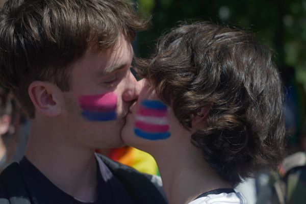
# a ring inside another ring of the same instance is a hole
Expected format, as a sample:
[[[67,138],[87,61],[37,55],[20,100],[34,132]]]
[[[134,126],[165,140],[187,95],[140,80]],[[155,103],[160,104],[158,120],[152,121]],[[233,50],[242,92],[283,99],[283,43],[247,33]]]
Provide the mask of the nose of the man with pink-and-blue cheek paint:
[[[122,94],[122,99],[125,102],[137,100],[141,90],[141,84],[137,82],[132,72],[129,73],[129,78],[127,80],[128,82],[126,83],[125,90]]]

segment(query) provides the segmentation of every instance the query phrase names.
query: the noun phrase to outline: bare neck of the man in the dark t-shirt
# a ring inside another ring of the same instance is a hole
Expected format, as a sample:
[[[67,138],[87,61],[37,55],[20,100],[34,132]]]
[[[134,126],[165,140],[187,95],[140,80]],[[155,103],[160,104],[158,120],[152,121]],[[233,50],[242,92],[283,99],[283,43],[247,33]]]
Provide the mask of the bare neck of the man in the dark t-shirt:
[[[94,149],[70,144],[55,121],[31,121],[25,156],[64,192],[85,202],[96,199],[97,166]]]

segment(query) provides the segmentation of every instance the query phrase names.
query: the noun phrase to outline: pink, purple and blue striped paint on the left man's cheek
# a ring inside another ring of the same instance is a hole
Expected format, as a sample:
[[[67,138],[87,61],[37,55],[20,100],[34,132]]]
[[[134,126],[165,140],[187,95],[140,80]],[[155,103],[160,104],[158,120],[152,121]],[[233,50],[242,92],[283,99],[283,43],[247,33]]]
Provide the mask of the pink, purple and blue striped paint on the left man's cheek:
[[[110,121],[117,118],[117,95],[114,92],[83,95],[79,98],[82,116],[89,121]]]

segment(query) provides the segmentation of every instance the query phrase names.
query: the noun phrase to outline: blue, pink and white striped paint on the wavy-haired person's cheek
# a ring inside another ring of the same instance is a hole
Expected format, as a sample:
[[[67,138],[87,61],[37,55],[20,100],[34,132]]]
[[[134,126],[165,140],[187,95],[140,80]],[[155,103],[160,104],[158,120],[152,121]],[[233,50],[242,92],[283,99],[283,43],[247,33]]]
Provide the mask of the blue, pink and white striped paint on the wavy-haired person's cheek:
[[[169,138],[167,106],[159,100],[143,100],[136,116],[134,133],[148,140]]]

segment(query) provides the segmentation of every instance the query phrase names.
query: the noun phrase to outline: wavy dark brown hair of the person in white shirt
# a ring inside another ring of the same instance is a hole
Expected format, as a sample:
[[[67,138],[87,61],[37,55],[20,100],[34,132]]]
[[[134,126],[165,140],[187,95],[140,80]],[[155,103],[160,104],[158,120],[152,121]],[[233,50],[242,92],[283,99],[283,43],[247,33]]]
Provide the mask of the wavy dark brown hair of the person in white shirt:
[[[271,51],[251,33],[211,22],[181,25],[136,65],[186,129],[211,107],[191,142],[225,181],[235,186],[282,160],[283,85]]]

